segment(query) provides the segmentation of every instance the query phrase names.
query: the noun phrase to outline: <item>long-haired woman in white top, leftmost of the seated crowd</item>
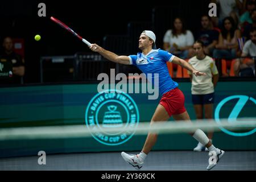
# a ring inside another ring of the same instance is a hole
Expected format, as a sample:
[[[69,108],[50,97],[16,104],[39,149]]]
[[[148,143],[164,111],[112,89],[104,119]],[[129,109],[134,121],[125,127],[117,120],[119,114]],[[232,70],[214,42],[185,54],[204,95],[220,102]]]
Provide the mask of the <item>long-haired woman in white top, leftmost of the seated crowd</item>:
[[[190,30],[186,30],[181,18],[174,19],[174,29],[167,30],[163,38],[163,48],[181,59],[192,56],[194,37]]]

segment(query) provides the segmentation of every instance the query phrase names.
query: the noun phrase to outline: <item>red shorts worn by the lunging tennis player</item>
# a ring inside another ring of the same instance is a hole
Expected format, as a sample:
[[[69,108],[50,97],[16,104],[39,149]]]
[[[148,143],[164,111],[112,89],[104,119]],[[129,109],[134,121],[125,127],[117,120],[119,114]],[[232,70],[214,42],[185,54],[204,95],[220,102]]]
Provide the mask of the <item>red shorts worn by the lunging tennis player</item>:
[[[172,114],[181,114],[186,111],[184,106],[185,97],[180,89],[175,88],[163,94],[159,104],[166,109],[171,117]]]

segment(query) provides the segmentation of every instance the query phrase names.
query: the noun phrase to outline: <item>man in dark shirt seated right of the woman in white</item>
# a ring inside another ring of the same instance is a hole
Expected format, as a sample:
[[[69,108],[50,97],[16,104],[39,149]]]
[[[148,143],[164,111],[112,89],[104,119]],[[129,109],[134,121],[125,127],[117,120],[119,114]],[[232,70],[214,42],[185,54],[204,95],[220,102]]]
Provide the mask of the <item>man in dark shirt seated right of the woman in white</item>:
[[[201,16],[201,30],[197,34],[197,40],[204,43],[204,52],[212,55],[213,49],[218,43],[218,31],[213,29],[212,22],[208,15]]]

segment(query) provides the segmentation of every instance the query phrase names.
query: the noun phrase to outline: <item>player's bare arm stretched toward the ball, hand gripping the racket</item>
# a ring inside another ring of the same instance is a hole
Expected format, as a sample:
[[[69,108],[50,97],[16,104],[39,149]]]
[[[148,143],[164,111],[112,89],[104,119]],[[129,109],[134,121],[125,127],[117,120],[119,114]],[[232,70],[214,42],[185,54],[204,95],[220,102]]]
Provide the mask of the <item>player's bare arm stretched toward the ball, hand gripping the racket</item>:
[[[92,46],[90,46],[90,49],[93,52],[100,53],[100,55],[102,55],[110,61],[113,61],[114,63],[130,64],[130,59],[128,56],[118,56],[115,53],[107,51],[106,49],[98,46],[97,44],[92,44]]]

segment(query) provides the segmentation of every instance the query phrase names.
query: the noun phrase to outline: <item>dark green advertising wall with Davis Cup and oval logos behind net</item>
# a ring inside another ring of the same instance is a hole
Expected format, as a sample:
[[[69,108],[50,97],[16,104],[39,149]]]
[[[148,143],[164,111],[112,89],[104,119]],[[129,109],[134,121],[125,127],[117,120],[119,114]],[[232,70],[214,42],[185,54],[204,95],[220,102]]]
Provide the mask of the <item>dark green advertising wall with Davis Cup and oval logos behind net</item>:
[[[1,88],[0,127],[86,125],[86,116],[88,125],[103,123],[105,127],[134,127],[139,122],[150,121],[160,100],[160,97],[148,100],[148,93],[100,95],[97,86],[73,84]],[[196,119],[191,99],[191,83],[181,82],[179,89],[185,95],[185,107],[191,119]],[[255,100],[255,82],[218,82],[213,115],[220,119],[256,117]],[[86,111],[89,112],[87,115]],[[255,130],[232,133],[223,129],[214,134],[213,143],[224,150],[256,150],[254,132]],[[0,156],[37,155],[41,150],[47,154],[137,151],[141,150],[146,139],[146,135],[129,133],[112,136],[114,137],[98,135],[89,138],[4,140],[0,141]],[[159,136],[153,150],[192,150],[196,144],[196,140],[188,134],[164,134]]]

